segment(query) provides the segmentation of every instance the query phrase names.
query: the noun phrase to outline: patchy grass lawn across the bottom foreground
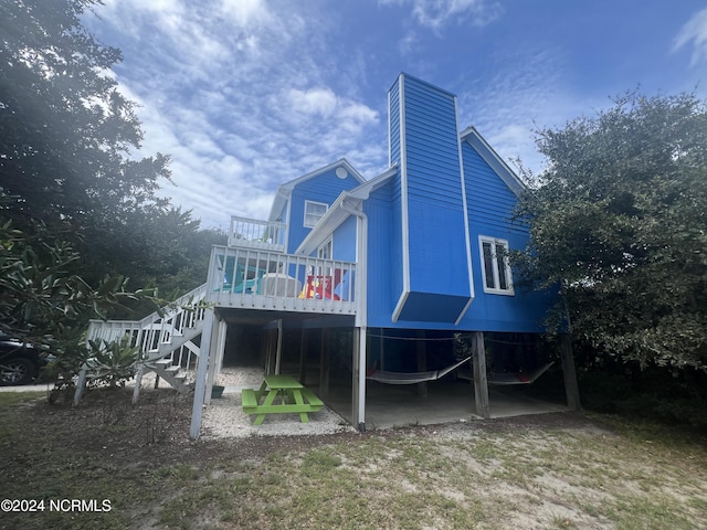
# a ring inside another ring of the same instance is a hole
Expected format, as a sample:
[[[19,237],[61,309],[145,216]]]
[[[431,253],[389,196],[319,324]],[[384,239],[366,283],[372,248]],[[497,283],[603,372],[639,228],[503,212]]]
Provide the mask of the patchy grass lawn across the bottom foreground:
[[[67,401],[0,393],[0,499],[38,510],[0,528],[707,526],[707,441],[664,426],[560,413],[191,442],[190,396],[170,390]]]

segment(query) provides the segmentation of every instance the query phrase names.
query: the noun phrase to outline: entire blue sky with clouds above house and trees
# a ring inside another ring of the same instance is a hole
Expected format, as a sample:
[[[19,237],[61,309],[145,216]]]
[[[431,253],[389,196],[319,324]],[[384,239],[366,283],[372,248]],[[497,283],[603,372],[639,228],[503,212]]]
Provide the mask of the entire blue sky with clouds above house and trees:
[[[407,72],[458,96],[506,160],[541,170],[532,129],[640,88],[707,98],[697,0],[104,0],[86,25],[119,47],[161,193],[203,227],[266,219],[279,183],[340,158],[388,161],[387,92]]]

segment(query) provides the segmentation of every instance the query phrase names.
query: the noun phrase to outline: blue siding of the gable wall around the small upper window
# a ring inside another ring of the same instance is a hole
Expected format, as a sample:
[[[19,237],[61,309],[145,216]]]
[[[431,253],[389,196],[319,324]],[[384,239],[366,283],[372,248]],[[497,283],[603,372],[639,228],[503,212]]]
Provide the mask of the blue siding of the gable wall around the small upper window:
[[[289,225],[285,252],[294,252],[312,231],[304,225],[305,201],[321,202],[331,206],[342,191],[351,190],[359,182],[350,174],[339,179],[336,169],[326,171],[295,186],[291,195]]]

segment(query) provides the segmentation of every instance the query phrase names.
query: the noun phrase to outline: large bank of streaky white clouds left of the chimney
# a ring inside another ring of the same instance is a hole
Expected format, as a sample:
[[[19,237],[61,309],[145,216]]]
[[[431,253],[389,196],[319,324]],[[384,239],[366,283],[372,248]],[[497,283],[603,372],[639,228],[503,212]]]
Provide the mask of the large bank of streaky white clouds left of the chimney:
[[[116,78],[140,104],[136,155],[171,156],[162,197],[228,226],[231,214],[265,218],[276,186],[341,157],[380,170],[386,131],[354,83],[365,64],[331,57],[326,18],[256,0],[187,4],[109,0],[98,12],[122,39]]]

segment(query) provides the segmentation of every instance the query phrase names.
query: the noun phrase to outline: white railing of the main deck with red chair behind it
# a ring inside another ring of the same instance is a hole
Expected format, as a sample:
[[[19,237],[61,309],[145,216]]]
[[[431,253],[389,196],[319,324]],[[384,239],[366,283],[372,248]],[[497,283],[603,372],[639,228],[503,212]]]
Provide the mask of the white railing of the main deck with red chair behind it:
[[[356,314],[356,264],[214,246],[207,299],[217,307]]]

